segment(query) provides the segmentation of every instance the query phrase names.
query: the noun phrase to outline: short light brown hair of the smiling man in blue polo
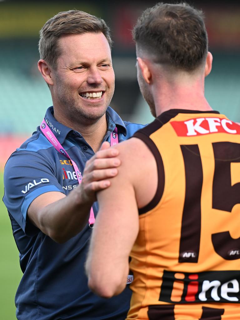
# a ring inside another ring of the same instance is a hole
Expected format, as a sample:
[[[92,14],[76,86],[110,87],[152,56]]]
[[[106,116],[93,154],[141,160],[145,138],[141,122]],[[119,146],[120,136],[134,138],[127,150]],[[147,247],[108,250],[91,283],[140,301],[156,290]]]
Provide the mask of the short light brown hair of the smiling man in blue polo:
[[[102,32],[108,40],[110,49],[112,48],[110,28],[104,20],[79,10],[57,13],[44,24],[39,32],[38,50],[40,58],[44,59],[56,70],[57,59],[61,54],[58,46],[60,36],[78,35],[86,32]]]

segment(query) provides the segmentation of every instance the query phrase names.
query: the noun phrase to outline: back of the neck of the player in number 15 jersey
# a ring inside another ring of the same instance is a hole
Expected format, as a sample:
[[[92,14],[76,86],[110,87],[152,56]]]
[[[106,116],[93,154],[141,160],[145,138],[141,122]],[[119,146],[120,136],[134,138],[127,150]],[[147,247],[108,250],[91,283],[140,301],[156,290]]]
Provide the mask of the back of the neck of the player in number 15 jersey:
[[[204,96],[204,87],[201,84],[178,85],[160,87],[155,90],[154,103],[156,115],[170,109],[186,109],[210,111],[212,108]]]

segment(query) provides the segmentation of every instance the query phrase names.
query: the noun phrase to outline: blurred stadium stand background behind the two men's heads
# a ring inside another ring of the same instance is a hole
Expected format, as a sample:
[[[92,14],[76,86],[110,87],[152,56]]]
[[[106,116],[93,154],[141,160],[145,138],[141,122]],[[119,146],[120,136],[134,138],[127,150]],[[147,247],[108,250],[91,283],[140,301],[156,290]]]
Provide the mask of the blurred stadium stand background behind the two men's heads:
[[[35,130],[46,108],[52,105],[50,91],[37,70],[37,42],[39,29],[60,11],[83,10],[108,22],[113,33],[116,74],[111,106],[124,120],[138,123],[153,120],[136,81],[131,29],[140,12],[155,2],[88,3],[0,0],[0,148],[6,154],[3,162],[20,140]],[[214,1],[191,1],[191,4],[205,12],[209,50],[214,58],[212,73],[206,78],[206,97],[212,108],[240,122],[240,4],[234,1],[218,1],[216,5]],[[11,150],[6,149],[9,144]]]

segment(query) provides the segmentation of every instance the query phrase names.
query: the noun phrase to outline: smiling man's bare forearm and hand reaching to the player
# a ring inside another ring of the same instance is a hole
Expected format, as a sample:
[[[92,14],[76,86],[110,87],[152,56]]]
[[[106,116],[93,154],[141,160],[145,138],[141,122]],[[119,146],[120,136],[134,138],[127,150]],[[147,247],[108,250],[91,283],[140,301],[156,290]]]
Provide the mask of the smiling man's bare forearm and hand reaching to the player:
[[[109,143],[104,142],[100,151],[86,163],[82,183],[68,196],[47,192],[30,204],[28,218],[54,241],[63,243],[84,228],[96,201],[96,191],[108,188],[109,178],[118,173],[118,150],[108,147]]]

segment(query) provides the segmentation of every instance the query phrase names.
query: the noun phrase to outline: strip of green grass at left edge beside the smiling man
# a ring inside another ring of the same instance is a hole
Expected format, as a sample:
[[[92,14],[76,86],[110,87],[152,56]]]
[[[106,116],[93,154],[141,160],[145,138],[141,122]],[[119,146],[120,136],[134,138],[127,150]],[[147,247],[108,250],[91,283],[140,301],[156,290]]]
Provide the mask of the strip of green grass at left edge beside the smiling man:
[[[15,292],[22,272],[19,253],[12,236],[11,222],[2,202],[4,195],[3,172],[0,172],[0,319],[16,319]]]

